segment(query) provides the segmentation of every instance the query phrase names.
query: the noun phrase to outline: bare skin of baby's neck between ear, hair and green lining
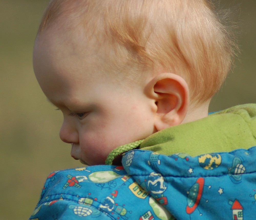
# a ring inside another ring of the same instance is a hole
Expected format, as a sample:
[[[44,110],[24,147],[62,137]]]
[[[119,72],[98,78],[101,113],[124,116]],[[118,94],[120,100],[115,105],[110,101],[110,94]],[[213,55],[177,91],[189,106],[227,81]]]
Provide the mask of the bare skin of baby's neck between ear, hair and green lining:
[[[188,109],[188,113],[181,124],[185,124],[188,122],[193,122],[201,118],[205,118],[208,116],[208,108],[209,108],[210,100],[206,101],[204,104],[200,106],[190,105]]]

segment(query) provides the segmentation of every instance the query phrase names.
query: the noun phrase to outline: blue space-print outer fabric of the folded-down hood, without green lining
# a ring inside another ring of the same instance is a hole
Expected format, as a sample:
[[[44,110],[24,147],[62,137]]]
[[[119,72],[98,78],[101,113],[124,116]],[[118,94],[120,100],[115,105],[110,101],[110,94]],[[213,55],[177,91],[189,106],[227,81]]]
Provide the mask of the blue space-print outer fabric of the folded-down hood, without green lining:
[[[256,147],[196,157],[133,150],[122,159],[128,175],[163,207],[162,213],[168,210],[182,220],[254,219],[255,161]]]

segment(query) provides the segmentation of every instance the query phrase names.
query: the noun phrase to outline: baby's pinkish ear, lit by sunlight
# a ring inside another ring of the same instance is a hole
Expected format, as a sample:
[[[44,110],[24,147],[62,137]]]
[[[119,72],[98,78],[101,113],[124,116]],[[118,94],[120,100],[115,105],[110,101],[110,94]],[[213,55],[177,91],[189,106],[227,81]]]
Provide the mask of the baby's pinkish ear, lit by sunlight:
[[[157,131],[182,123],[189,106],[189,89],[182,77],[161,73],[148,83],[146,92],[157,106],[154,119]]]

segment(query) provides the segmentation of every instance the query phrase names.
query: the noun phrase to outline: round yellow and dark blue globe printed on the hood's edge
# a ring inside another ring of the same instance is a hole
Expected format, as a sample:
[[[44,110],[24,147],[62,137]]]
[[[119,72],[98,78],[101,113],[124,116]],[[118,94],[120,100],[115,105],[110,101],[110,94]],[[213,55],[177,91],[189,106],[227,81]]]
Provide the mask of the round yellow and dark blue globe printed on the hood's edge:
[[[206,170],[213,170],[221,164],[221,156],[219,154],[205,154],[198,156],[200,167]]]

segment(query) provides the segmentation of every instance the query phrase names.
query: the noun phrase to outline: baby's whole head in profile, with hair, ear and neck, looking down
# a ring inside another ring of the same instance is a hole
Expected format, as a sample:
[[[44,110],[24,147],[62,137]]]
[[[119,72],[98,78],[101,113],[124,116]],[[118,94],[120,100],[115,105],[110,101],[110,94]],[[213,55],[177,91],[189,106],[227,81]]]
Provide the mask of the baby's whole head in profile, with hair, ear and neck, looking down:
[[[204,0],[53,0],[34,70],[63,113],[71,156],[103,164],[114,148],[207,115],[230,69],[225,28]]]

